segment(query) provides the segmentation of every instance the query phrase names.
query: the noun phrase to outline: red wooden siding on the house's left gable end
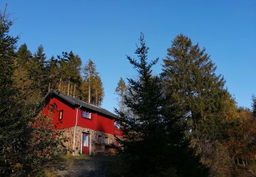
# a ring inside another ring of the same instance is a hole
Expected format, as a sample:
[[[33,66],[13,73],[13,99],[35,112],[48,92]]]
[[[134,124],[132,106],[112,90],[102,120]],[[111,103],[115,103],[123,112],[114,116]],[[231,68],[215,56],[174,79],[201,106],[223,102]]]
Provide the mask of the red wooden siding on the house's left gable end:
[[[68,105],[64,101],[61,101],[60,99],[52,97],[48,101],[48,103],[46,104],[43,110],[44,114],[48,114],[48,106],[50,106],[53,103],[56,103],[57,105],[57,108],[54,110],[54,113],[53,113],[54,115],[53,123],[54,125],[56,125],[56,128],[66,129],[69,127],[74,127],[74,125],[76,124],[76,108],[72,108],[70,105]],[[63,110],[62,120],[59,120],[60,110]]]

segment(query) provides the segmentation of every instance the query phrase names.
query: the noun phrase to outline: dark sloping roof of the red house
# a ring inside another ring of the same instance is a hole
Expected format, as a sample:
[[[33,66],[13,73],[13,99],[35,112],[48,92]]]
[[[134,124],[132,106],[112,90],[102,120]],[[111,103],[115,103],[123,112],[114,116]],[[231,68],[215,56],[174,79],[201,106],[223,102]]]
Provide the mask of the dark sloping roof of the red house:
[[[83,108],[88,108],[89,110],[94,110],[96,112],[100,112],[106,116],[111,116],[112,118],[118,118],[117,115],[113,114],[112,112],[109,112],[108,110],[105,110],[103,108],[100,108],[98,106],[94,106],[92,104],[89,103],[85,103],[85,101],[81,101],[80,99],[76,99],[75,97],[70,97],[68,95],[64,95],[63,93],[59,93],[57,91],[51,90],[50,92],[48,92],[45,96],[44,99],[45,100],[49,95],[56,95],[57,97],[60,97],[61,99],[64,99],[65,101],[68,101],[68,103],[71,103],[74,106],[81,106]]]

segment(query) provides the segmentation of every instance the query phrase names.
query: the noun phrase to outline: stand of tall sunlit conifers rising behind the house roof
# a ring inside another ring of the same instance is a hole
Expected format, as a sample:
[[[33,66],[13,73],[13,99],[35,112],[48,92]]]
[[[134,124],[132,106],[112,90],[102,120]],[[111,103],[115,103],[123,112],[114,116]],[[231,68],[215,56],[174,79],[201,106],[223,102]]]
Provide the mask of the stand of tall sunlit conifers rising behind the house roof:
[[[79,55],[72,51],[47,59],[43,46],[39,46],[32,54],[26,44],[14,50],[14,57],[14,86],[24,95],[32,94],[33,101],[41,101],[46,93],[55,89],[87,103],[101,105],[104,90],[96,65],[91,59],[83,67]],[[31,80],[39,88],[33,93],[27,89],[32,84]]]

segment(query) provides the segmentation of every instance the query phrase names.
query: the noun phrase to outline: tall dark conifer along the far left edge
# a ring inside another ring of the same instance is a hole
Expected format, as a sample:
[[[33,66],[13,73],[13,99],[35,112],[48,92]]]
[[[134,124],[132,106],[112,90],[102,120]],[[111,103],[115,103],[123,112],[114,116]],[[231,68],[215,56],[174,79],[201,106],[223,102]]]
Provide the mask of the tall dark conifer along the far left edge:
[[[23,140],[27,134],[27,119],[21,119],[22,108],[18,89],[14,87],[14,49],[18,37],[9,35],[12,21],[5,12],[0,14],[0,175],[15,174],[15,165],[22,161],[27,144]],[[23,117],[22,117],[23,118]],[[18,167],[18,166],[17,166]]]

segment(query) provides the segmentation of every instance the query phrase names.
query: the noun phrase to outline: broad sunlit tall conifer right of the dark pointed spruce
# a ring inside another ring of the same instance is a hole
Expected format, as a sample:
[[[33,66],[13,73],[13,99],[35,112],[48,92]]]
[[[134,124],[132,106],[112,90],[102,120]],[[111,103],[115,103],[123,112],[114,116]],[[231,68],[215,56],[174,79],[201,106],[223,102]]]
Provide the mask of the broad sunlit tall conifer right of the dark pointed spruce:
[[[226,104],[232,99],[224,88],[223,77],[216,76],[216,66],[205,48],[201,50],[184,35],[175,37],[163,61],[162,76],[169,109],[189,123],[194,145],[203,153],[203,161],[212,167],[212,174],[228,169],[229,157],[223,163],[226,158],[215,158],[221,150],[223,155],[228,155],[221,142],[227,141],[227,127],[233,116],[227,115]]]

